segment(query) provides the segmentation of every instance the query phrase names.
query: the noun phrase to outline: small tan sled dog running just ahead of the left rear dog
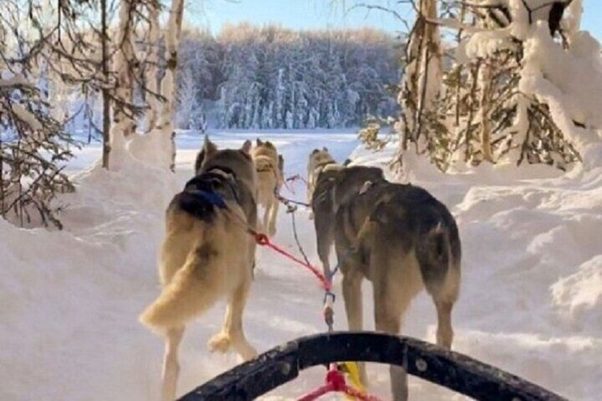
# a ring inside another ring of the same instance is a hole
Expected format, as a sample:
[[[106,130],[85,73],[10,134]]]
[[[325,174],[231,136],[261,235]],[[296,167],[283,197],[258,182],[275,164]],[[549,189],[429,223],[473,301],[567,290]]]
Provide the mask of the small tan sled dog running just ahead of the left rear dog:
[[[264,207],[262,230],[268,236],[276,234],[276,219],[280,202],[275,192],[283,186],[284,159],[270,141],[257,139],[251,151],[257,172],[257,204]]]

